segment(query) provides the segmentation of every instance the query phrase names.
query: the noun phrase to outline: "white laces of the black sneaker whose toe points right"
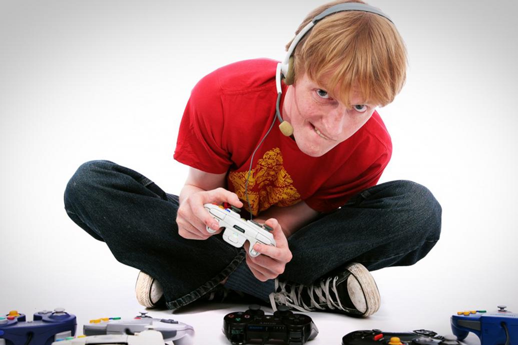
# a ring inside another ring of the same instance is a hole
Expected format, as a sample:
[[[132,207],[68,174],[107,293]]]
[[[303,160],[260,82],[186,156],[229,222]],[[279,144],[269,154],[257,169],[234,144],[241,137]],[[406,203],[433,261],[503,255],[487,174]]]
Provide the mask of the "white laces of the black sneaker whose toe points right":
[[[291,309],[299,311],[313,311],[315,309],[324,310],[321,304],[326,304],[329,309],[346,310],[340,303],[340,298],[336,289],[336,281],[338,277],[329,277],[325,281],[321,280],[320,284],[313,284],[309,287],[302,284],[289,284],[284,281],[275,279],[275,291],[270,293],[270,304],[274,311],[277,311],[276,302],[285,305]],[[331,281],[333,284],[330,286]],[[319,286],[320,285],[320,286]],[[329,291],[330,288],[330,291]],[[290,289],[290,291],[287,291]],[[307,289],[309,295],[309,306],[302,300],[304,289]],[[335,298],[331,293],[334,293]],[[315,297],[318,299],[315,299]]]

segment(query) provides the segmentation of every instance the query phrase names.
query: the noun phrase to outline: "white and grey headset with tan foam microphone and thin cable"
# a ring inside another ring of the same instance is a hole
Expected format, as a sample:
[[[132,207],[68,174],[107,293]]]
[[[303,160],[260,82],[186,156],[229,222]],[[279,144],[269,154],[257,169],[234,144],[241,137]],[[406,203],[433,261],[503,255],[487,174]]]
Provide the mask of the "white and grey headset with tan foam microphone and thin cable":
[[[281,130],[282,134],[284,134],[284,136],[291,137],[293,134],[293,126],[289,122],[282,119],[281,112],[279,109],[281,96],[282,96],[281,80],[284,80],[284,83],[286,85],[292,85],[293,82],[295,81],[295,72],[294,72],[295,63],[294,63],[293,52],[295,51],[295,48],[297,47],[298,42],[301,39],[303,39],[304,36],[306,36],[306,34],[310,31],[310,29],[313,26],[315,26],[316,23],[318,23],[325,17],[330,16],[331,14],[335,14],[338,12],[344,12],[344,11],[362,11],[362,12],[375,13],[375,14],[378,14],[378,16],[386,18],[391,23],[393,23],[392,19],[390,19],[389,16],[387,16],[385,13],[383,13],[382,11],[380,11],[379,9],[377,9],[375,7],[369,6],[367,4],[361,4],[361,3],[342,3],[342,4],[337,4],[337,5],[331,6],[331,7],[327,8],[326,10],[322,11],[320,14],[317,14],[315,17],[313,17],[313,19],[306,26],[304,26],[300,30],[300,32],[295,36],[295,38],[293,38],[293,41],[291,42],[290,47],[288,48],[288,50],[286,52],[286,56],[284,57],[283,62],[280,62],[277,64],[277,70],[276,70],[276,76],[275,76],[275,83],[276,83],[276,88],[277,88],[276,116],[274,117],[274,121],[271,123],[271,126],[268,129],[268,131],[266,132],[266,134],[264,135],[263,139],[261,139],[261,141],[257,144],[257,147],[255,148],[254,152],[252,153],[252,158],[250,159],[250,168],[249,168],[248,174],[247,174],[247,182],[244,186],[244,194],[245,194],[245,196],[247,198],[247,202],[248,202],[248,209],[250,211],[250,219],[252,219],[252,208],[250,206],[250,200],[248,199],[248,181],[250,179],[250,174],[252,172],[252,163],[253,163],[255,152],[257,151],[257,149],[261,146],[263,141],[268,136],[268,133],[274,126],[276,119],[278,119],[280,122],[279,129]]]

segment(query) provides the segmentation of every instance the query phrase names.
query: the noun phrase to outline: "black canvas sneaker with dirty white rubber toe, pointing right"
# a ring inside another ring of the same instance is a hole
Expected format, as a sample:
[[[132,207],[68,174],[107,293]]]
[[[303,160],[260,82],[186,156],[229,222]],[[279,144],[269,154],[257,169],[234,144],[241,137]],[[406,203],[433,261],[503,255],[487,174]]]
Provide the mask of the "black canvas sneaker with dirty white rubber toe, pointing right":
[[[360,263],[353,262],[337,276],[305,286],[275,280],[270,294],[271,307],[285,305],[298,311],[329,311],[367,317],[380,308],[380,293],[372,275]]]

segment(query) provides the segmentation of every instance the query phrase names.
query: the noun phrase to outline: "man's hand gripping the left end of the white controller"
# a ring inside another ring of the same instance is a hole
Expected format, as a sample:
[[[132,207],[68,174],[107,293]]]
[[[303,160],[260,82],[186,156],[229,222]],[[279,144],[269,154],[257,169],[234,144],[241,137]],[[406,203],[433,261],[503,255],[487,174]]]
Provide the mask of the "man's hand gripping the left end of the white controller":
[[[178,207],[176,222],[178,224],[178,234],[189,239],[207,239],[212,235],[218,234],[220,227],[218,221],[212,218],[209,212],[203,207],[204,204],[222,204],[227,202],[238,208],[243,207],[243,203],[237,195],[224,188],[212,190],[202,190],[190,194]],[[209,233],[205,228],[208,226],[214,233]]]

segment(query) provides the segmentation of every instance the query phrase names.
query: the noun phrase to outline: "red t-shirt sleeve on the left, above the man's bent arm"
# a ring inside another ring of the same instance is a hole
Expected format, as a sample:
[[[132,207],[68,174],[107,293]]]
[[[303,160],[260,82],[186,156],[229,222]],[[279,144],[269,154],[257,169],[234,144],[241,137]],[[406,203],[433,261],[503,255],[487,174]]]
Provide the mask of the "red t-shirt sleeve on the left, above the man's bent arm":
[[[185,106],[174,158],[208,173],[222,174],[232,164],[224,142],[225,118],[217,71],[200,80]]]

